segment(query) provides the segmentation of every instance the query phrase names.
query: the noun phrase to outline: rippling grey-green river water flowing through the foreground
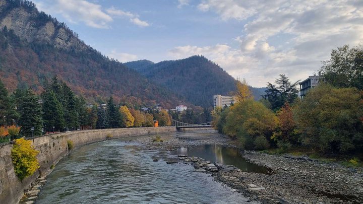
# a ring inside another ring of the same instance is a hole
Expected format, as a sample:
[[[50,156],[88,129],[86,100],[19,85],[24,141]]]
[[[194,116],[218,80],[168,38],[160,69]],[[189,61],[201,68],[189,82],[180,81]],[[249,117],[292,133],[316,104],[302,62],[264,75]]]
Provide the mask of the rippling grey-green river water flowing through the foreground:
[[[166,164],[167,152],[106,141],[84,146],[59,162],[36,203],[245,203],[248,199],[193,172]],[[251,203],[251,202],[249,202]]]

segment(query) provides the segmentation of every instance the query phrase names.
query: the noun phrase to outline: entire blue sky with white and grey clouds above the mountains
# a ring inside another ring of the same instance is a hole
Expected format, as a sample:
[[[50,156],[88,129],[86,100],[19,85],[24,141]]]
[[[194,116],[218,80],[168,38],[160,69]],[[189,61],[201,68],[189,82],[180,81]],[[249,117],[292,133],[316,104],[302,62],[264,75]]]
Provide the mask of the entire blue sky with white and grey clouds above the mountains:
[[[103,54],[154,62],[202,54],[263,87],[304,80],[332,49],[363,43],[363,1],[35,0]]]

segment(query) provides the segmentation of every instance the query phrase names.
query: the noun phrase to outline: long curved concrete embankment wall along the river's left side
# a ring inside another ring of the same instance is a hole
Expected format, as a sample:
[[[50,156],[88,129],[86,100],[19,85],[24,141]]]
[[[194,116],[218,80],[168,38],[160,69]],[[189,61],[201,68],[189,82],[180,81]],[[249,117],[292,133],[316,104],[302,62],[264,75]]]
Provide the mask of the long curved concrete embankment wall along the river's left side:
[[[24,194],[24,190],[29,188],[39,175],[47,175],[50,172],[50,166],[56,164],[68,154],[68,140],[72,141],[75,148],[77,148],[104,141],[107,134],[111,134],[112,139],[117,139],[174,131],[176,131],[175,127],[116,128],[62,132],[34,138],[33,146],[39,151],[37,159],[40,168],[22,182],[16,176],[12,164],[11,149],[13,145],[0,146],[0,203],[18,203]]]

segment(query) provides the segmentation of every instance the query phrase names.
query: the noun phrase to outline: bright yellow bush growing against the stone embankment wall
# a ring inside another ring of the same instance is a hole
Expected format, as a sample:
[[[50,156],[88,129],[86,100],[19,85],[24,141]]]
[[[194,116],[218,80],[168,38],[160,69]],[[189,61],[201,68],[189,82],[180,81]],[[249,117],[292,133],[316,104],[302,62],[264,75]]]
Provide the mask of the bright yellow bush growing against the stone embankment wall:
[[[15,140],[11,157],[14,171],[21,181],[39,168],[39,162],[36,158],[38,153],[39,151],[34,150],[31,146],[31,141],[24,138]]]

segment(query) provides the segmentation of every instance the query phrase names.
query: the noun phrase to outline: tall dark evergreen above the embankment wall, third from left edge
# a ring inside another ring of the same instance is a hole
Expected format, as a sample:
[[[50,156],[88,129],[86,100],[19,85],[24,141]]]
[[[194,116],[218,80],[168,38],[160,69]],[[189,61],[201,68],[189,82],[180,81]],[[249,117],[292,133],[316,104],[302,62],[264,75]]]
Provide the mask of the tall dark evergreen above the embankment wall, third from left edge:
[[[48,131],[64,130],[66,122],[64,120],[64,112],[61,103],[56,99],[53,91],[43,94],[43,120],[45,129]]]

